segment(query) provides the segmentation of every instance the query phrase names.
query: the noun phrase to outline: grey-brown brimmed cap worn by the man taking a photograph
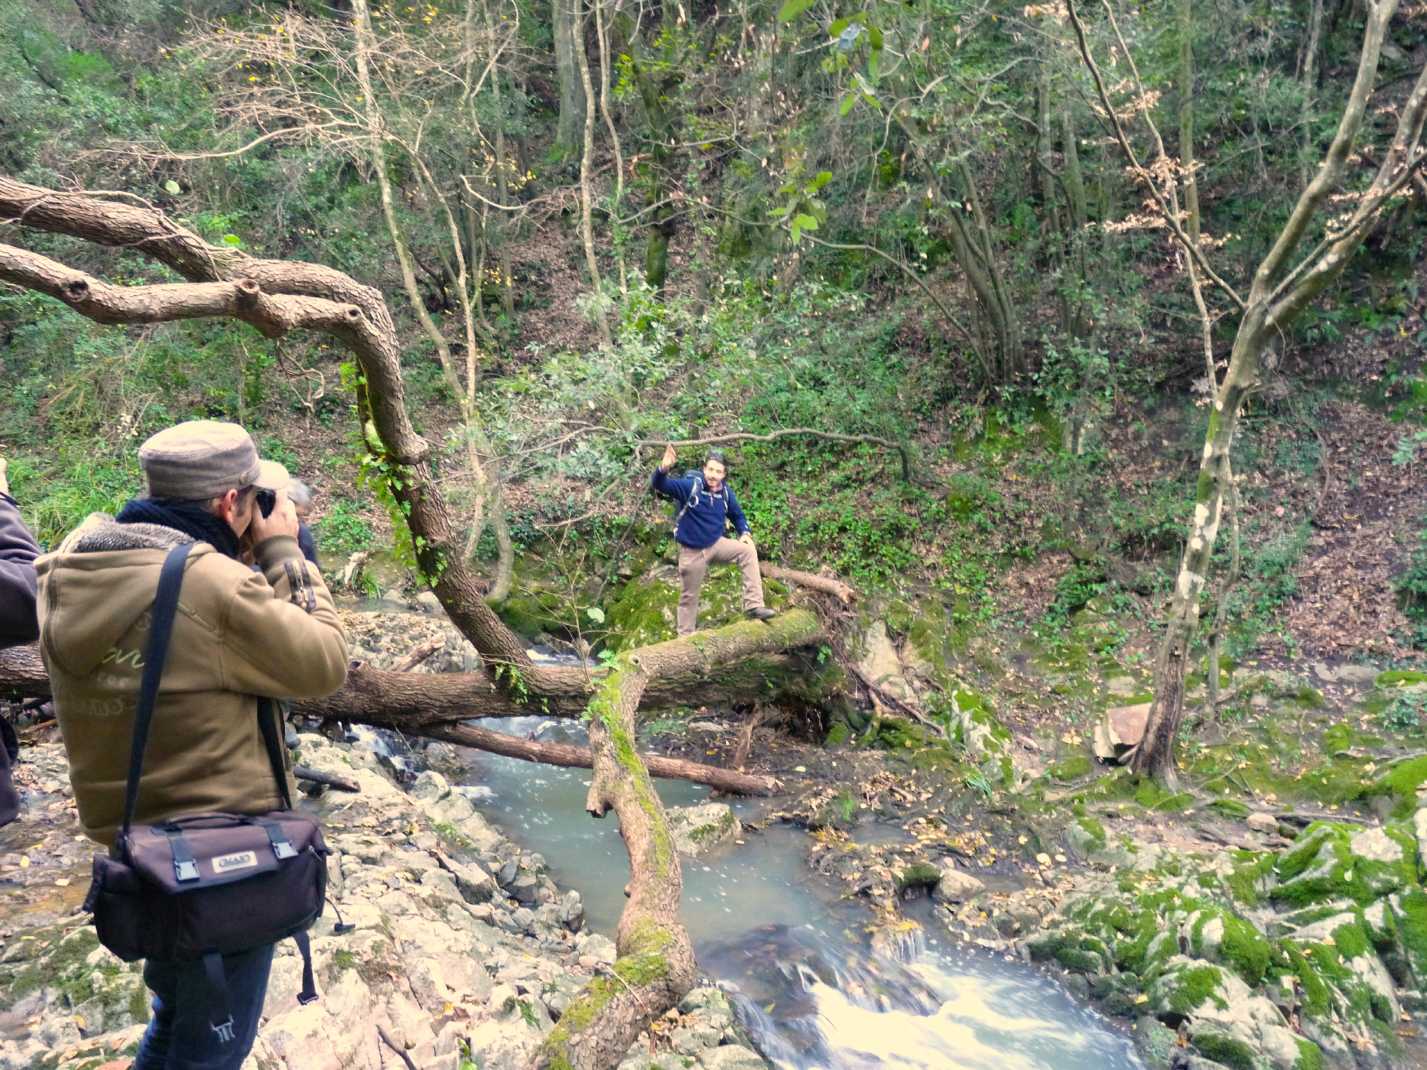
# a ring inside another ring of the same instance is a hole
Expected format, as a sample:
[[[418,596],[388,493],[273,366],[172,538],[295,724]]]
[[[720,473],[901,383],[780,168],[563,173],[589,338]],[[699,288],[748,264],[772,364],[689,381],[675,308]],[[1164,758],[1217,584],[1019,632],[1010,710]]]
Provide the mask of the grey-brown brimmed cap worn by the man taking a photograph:
[[[237,424],[190,419],[160,431],[138,447],[138,467],[150,498],[197,501],[248,485],[281,491],[287,469],[263,461],[253,437]]]

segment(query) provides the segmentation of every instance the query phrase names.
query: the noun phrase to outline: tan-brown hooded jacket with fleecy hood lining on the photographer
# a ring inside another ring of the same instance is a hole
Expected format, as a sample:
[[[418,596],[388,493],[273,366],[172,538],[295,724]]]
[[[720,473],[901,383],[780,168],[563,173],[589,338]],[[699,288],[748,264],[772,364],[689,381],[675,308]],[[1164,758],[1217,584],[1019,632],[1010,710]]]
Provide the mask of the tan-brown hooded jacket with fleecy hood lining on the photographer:
[[[174,528],[96,514],[36,562],[40,651],[74,802],[86,835],[106,846],[124,812],[158,569],[174,545],[191,541]],[[188,555],[137,823],[281,806],[258,696],[320,698],[347,676],[347,638],[331,595],[297,541],[267,539],[257,555],[261,574],[207,542]]]

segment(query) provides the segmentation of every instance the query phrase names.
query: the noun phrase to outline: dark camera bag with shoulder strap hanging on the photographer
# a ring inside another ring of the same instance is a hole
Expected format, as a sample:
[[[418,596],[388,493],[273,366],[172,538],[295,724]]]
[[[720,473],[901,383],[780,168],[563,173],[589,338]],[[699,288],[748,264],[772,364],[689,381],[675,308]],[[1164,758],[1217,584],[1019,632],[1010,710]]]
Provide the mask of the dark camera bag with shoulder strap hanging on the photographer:
[[[157,825],[133,823],[154,698],[191,546],[171,549],[158,576],[134,712],[124,822],[108,855],[94,856],[84,909],[94,914],[100,943],[124,962],[201,960],[213,1027],[221,1036],[224,1027],[230,1034],[233,1030],[224,954],[291,937],[303,954],[298,1003],[317,999],[307,930],[323,913],[331,852],[317,823],[293,810],[271,699],[260,702],[258,722],[281,810],[195,813]],[[338,926],[337,932],[345,929]]]

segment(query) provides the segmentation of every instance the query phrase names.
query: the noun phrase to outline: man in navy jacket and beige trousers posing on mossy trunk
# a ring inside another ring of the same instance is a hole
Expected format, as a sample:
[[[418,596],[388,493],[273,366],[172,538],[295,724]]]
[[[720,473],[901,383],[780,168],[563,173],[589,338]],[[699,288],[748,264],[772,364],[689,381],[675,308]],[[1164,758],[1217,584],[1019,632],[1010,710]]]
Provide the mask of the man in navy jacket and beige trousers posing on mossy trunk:
[[[743,571],[743,613],[755,621],[769,621],[772,609],[763,608],[763,578],[758,572],[758,549],[748,529],[748,518],[738,505],[733,488],[725,482],[728,461],[718,449],[704,459],[704,472],[684,478],[669,475],[676,454],[664,448],[664,458],[654,469],[649,485],[665,498],[678,502],[674,518],[674,541],[679,544],[679,595],[676,615],[679,635],[692,635],[699,626],[699,588],[709,565],[736,562]],[[729,522],[738,539],[723,535]]]

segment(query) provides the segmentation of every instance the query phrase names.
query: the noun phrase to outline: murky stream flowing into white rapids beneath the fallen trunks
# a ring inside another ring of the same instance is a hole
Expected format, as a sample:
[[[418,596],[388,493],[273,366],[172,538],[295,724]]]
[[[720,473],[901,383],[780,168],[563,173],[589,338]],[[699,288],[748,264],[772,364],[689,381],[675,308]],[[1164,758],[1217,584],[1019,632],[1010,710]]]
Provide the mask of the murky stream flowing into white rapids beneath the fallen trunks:
[[[584,743],[579,725],[519,718],[512,735]],[[591,929],[614,936],[629,877],[618,820],[585,815],[589,773],[468,752],[468,795],[507,835],[578,889]],[[708,789],[656,780],[666,806]],[[756,803],[735,800],[741,816]],[[708,860],[684,862],[684,922],[701,966],[728,990],[779,1070],[1119,1070],[1143,1067],[1129,1039],[1019,962],[928,932],[873,949],[869,916],[803,863],[798,829],[752,829]],[[910,905],[916,907],[918,905]],[[915,916],[915,910],[913,910]]]

